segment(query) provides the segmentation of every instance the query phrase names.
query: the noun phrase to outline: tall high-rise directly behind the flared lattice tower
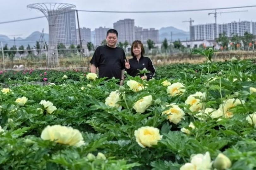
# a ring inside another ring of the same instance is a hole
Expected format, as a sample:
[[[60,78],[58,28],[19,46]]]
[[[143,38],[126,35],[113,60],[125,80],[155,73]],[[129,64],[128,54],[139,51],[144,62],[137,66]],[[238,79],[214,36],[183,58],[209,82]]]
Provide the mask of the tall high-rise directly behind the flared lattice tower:
[[[55,32],[57,43],[66,46],[76,44],[75,10],[65,10],[58,15],[55,22]]]

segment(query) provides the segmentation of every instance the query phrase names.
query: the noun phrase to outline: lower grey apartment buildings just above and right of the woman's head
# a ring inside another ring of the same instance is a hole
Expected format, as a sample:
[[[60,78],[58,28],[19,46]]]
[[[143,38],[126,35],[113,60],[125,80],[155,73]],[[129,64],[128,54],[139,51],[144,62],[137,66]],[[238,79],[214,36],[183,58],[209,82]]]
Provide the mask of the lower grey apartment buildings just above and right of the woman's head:
[[[135,39],[140,40],[142,43],[146,43],[148,39],[151,39],[153,42],[159,42],[159,31],[155,28],[142,29],[142,27],[135,26]]]

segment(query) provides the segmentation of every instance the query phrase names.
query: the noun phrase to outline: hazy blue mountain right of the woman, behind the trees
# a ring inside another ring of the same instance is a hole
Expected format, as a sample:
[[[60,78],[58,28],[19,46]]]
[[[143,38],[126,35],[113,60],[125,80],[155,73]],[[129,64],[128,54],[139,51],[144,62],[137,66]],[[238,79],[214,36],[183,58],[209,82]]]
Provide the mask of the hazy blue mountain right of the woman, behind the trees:
[[[172,41],[180,39],[180,41],[189,40],[189,32],[177,29],[173,26],[162,27],[159,30],[159,41],[163,42],[164,38],[168,41],[171,41],[171,32],[172,32]]]

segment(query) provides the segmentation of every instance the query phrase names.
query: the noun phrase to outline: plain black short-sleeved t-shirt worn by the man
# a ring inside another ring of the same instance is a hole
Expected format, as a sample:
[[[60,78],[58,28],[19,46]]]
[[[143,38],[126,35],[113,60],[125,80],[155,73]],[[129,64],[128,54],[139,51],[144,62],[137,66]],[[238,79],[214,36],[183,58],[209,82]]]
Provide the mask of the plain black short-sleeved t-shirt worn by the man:
[[[125,59],[122,48],[103,45],[96,48],[90,63],[98,67],[99,77],[121,79],[121,71],[125,69]]]

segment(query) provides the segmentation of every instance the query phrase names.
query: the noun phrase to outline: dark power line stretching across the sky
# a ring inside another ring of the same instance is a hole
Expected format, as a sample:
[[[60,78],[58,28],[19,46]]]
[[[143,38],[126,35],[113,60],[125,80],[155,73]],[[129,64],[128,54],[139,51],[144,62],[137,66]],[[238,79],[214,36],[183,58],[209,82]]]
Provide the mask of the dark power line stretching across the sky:
[[[250,7],[256,7],[256,5],[251,6],[240,6],[240,7],[226,7],[226,8],[208,8],[208,9],[185,9],[185,10],[166,10],[166,11],[96,11],[96,10],[78,10],[81,12],[100,12],[100,13],[171,13],[171,12],[193,12],[193,11],[208,11],[208,10],[220,10],[220,9],[235,9],[235,8],[250,8]],[[73,12],[73,11],[66,11],[67,12]],[[11,20],[11,21],[4,21],[0,22],[0,24],[7,24],[12,22],[19,22],[19,21],[26,21],[26,20],[34,20],[39,18],[44,18],[45,16],[40,17],[33,17],[33,18],[26,18],[26,19],[20,19],[20,20]]]

